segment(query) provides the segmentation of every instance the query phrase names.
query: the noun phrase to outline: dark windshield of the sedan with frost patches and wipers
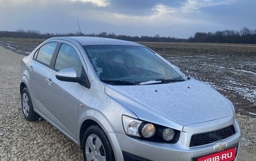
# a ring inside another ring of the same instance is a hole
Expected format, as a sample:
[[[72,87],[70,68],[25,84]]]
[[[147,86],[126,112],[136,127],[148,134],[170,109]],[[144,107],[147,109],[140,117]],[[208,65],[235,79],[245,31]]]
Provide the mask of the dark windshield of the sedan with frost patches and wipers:
[[[84,49],[100,80],[108,84],[184,81],[180,73],[146,47],[88,45]]]

